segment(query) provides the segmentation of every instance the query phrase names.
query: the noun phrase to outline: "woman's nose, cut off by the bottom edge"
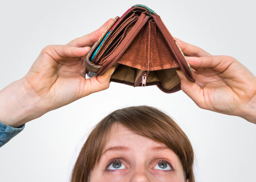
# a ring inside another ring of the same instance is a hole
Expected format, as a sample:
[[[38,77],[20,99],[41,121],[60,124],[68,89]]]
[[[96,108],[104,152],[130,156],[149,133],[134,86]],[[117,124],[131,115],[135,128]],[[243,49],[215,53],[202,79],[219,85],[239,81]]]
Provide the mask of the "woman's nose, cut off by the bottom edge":
[[[145,164],[134,166],[130,182],[151,182],[150,171]]]

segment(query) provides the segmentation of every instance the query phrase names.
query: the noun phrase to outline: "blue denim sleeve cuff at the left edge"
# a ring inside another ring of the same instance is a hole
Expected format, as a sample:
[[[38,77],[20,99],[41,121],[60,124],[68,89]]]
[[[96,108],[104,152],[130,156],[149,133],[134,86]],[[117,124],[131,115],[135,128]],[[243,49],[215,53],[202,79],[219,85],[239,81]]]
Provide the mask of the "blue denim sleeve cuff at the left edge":
[[[18,128],[14,128],[0,121],[0,147],[9,142],[16,134],[22,131],[24,127],[25,124]]]

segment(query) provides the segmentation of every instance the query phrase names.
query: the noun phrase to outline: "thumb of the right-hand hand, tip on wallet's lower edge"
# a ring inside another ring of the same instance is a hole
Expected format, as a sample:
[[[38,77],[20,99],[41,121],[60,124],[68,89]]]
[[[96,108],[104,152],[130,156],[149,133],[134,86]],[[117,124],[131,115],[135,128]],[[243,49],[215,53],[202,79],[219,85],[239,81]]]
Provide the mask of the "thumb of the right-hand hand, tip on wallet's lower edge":
[[[189,81],[183,74],[180,68],[176,70],[178,76],[181,78],[181,90],[185,92],[200,108],[204,108],[204,94],[203,89],[195,82]]]

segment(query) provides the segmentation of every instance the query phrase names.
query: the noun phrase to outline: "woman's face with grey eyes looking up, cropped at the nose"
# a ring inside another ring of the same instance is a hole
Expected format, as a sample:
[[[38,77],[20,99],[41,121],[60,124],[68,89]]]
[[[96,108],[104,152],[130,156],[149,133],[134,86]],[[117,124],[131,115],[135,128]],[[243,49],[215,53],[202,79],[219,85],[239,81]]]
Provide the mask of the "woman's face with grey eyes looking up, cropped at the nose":
[[[181,161],[163,143],[113,124],[90,182],[188,182]]]

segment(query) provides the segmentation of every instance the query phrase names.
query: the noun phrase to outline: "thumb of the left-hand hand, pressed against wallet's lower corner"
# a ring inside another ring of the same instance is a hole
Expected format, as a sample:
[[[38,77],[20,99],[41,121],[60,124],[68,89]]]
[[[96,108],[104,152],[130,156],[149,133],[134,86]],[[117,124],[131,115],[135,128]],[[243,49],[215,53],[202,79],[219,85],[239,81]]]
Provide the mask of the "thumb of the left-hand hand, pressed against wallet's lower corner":
[[[89,95],[94,92],[99,92],[109,88],[110,77],[115,71],[116,67],[112,66],[106,73],[100,76],[93,76],[90,79],[86,79],[86,84],[84,88],[84,95]]]

